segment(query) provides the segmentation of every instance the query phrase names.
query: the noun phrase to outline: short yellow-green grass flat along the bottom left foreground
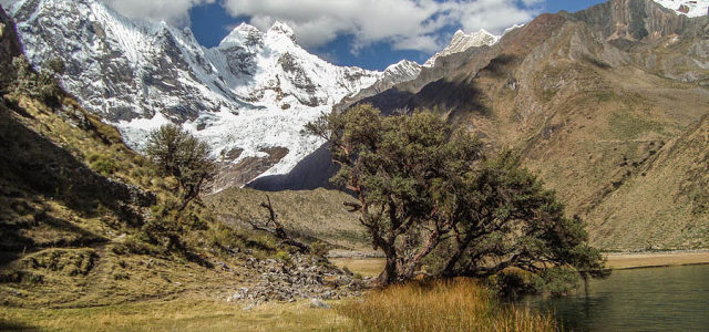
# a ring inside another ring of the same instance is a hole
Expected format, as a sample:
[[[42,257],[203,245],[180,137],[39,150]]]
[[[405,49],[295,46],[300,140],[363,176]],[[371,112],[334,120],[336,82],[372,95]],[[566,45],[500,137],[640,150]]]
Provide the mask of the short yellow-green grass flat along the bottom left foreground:
[[[83,309],[0,307],[0,331],[350,331],[350,321],[307,301],[244,311],[225,301],[182,298]]]

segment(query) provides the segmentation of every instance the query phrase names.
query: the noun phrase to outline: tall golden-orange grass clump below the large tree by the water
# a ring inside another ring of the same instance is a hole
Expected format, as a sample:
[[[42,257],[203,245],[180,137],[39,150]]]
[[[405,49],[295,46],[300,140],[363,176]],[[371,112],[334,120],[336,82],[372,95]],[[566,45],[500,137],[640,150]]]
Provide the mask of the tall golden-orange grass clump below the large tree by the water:
[[[357,331],[557,331],[554,318],[502,305],[475,281],[392,286],[336,307]]]

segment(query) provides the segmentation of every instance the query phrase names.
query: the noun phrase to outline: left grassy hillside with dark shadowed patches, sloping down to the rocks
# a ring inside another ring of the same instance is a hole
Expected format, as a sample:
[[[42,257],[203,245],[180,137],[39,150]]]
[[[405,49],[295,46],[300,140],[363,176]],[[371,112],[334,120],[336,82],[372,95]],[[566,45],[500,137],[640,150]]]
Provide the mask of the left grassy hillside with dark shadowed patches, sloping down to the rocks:
[[[175,180],[114,127],[61,91],[19,89],[11,62],[21,48],[0,19],[0,66],[11,69],[0,73],[0,304],[214,298],[248,284],[255,272],[243,261],[253,256],[235,252],[275,255],[276,242],[216,222],[199,201],[176,214]]]

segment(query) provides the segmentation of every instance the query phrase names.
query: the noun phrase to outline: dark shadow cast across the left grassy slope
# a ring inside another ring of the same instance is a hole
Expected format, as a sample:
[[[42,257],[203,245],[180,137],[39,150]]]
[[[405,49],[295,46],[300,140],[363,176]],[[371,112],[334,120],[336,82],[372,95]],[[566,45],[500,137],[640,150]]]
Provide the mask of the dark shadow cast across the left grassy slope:
[[[154,197],[113,181],[84,166],[69,152],[28,128],[19,116],[31,115],[18,105],[12,111],[0,104],[0,266],[22,252],[50,247],[90,246],[107,239],[50,216],[52,200],[84,218],[99,218],[110,210],[121,220],[141,224],[129,206],[154,204]],[[47,124],[44,129],[51,131]],[[41,240],[28,235],[44,229],[58,237]]]

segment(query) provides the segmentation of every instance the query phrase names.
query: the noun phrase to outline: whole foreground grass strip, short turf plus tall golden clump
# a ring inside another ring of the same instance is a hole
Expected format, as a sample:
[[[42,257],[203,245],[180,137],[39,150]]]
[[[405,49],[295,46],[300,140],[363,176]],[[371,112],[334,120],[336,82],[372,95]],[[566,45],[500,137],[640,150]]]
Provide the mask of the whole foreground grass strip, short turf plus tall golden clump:
[[[501,305],[474,281],[394,286],[363,300],[268,303],[244,311],[204,295],[80,309],[0,307],[0,331],[557,331],[554,319]]]

